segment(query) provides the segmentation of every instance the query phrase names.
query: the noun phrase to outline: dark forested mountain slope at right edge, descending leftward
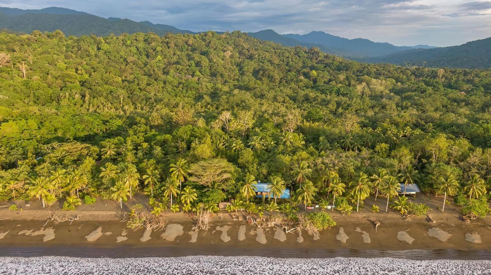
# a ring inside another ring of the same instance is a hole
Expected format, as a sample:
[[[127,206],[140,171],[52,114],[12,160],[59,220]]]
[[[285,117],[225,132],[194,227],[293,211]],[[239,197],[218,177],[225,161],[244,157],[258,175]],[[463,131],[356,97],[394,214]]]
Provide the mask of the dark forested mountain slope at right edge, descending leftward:
[[[392,63],[425,67],[490,69],[491,37],[467,42],[460,46],[404,50],[382,57],[359,58],[358,60],[369,63]]]

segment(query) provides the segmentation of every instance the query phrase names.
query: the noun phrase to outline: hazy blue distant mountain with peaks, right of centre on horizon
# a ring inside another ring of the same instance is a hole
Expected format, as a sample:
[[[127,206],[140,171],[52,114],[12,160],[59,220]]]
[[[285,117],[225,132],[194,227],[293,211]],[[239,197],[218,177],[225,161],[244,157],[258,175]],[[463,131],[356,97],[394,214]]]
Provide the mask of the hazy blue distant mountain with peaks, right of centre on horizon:
[[[324,45],[327,48],[334,49],[342,49],[346,51],[345,57],[353,57],[353,56],[363,56],[363,57],[372,57],[372,56],[383,56],[395,52],[399,52],[402,50],[410,50],[416,48],[428,48],[431,46],[427,45],[417,45],[417,46],[394,46],[389,43],[380,43],[373,42],[368,39],[363,38],[355,38],[348,39],[339,36],[335,36],[332,34],[325,33],[323,31],[312,31],[310,33],[300,35],[300,34],[285,34],[284,36],[293,38],[300,42],[306,43],[315,43]],[[357,53],[355,55],[350,55],[350,52]]]

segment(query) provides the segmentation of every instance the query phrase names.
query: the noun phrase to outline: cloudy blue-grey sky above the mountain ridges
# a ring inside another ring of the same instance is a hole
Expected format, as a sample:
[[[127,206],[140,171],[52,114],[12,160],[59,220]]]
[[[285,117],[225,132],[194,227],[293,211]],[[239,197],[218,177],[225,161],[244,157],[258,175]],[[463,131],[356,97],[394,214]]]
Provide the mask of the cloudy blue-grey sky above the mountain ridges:
[[[50,6],[192,31],[324,31],[394,45],[453,46],[491,37],[491,0],[0,0]]]

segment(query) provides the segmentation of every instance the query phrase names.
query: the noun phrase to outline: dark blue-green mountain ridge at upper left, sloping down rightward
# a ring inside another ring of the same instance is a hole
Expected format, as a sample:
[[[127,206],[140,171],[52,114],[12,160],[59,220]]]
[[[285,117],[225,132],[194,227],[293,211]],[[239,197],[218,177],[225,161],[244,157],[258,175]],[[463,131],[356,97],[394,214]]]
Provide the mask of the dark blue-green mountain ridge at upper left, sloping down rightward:
[[[17,32],[31,33],[34,30],[53,32],[61,30],[65,35],[99,35],[111,33],[155,32],[164,35],[173,33],[193,33],[170,25],[135,22],[121,18],[102,18],[85,12],[51,7],[40,10],[0,8],[0,28]]]

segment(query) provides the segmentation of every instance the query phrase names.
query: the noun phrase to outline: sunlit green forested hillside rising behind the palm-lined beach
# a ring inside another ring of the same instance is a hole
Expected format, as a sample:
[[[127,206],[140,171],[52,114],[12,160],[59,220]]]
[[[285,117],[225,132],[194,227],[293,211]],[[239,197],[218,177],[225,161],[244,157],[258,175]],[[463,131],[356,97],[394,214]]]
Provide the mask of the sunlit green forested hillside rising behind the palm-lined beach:
[[[0,33],[0,200],[172,198],[178,184],[183,207],[213,208],[249,200],[254,180],[305,204],[333,182],[354,205],[385,181],[486,198],[490,140],[491,71],[364,64],[241,32]]]

